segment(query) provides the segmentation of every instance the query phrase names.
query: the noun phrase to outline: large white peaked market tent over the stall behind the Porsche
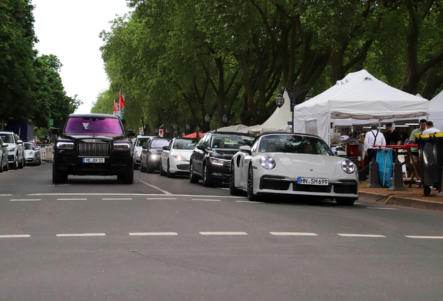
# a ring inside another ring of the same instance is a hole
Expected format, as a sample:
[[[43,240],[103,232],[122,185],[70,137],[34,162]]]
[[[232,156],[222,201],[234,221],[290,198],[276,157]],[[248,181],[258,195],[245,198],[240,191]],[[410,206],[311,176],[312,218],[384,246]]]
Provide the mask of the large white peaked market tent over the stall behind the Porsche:
[[[428,115],[428,100],[393,88],[366,70],[294,108],[295,132],[316,134],[329,144],[331,119],[410,119]]]

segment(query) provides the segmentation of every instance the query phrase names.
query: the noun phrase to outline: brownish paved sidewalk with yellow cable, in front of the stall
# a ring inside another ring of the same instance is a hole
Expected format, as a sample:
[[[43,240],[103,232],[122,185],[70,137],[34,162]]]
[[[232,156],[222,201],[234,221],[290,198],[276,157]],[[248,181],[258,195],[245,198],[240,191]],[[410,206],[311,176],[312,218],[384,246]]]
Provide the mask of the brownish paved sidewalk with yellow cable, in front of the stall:
[[[436,210],[443,212],[443,197],[436,196],[438,190],[430,190],[428,196],[423,195],[423,188],[404,185],[406,190],[389,190],[389,188],[366,188],[368,181],[359,186],[359,198],[372,201],[386,202],[398,206]]]

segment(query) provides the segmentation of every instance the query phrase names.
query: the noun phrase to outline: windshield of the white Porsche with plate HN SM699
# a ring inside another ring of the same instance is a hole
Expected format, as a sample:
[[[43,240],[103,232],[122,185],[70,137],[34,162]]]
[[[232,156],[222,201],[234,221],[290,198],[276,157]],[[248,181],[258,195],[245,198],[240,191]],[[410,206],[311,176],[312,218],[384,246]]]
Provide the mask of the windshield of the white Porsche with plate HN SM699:
[[[258,152],[334,155],[331,148],[322,139],[295,134],[266,135],[260,141]]]

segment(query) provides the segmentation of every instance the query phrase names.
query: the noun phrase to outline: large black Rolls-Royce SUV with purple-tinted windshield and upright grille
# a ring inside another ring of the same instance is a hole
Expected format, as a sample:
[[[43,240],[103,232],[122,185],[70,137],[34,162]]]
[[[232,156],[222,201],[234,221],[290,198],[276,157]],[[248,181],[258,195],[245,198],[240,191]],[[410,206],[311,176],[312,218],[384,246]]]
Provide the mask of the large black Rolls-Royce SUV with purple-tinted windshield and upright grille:
[[[134,135],[128,130],[129,137]],[[70,114],[54,144],[52,182],[63,183],[68,175],[91,175],[117,176],[132,184],[134,147],[129,137],[116,115]]]

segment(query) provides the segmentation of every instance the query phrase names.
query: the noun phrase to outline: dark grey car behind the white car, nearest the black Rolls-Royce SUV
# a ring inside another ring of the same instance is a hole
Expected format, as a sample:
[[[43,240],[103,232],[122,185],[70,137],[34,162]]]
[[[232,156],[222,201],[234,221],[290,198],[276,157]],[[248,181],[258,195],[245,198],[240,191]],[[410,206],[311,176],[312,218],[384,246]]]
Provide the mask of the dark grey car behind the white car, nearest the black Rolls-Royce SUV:
[[[150,138],[148,144],[143,146],[140,155],[140,171],[153,173],[160,170],[160,155],[162,155],[163,146],[168,146],[171,142],[170,138],[153,137]]]

